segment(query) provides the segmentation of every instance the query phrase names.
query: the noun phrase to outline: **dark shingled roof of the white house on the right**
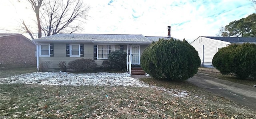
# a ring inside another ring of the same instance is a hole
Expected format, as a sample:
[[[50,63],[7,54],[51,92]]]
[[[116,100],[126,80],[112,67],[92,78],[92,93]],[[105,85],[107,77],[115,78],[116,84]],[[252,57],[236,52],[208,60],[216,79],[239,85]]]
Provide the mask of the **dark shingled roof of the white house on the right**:
[[[209,37],[209,36],[202,36],[205,38],[211,38],[215,40],[221,40],[230,43],[256,43],[256,37]]]

